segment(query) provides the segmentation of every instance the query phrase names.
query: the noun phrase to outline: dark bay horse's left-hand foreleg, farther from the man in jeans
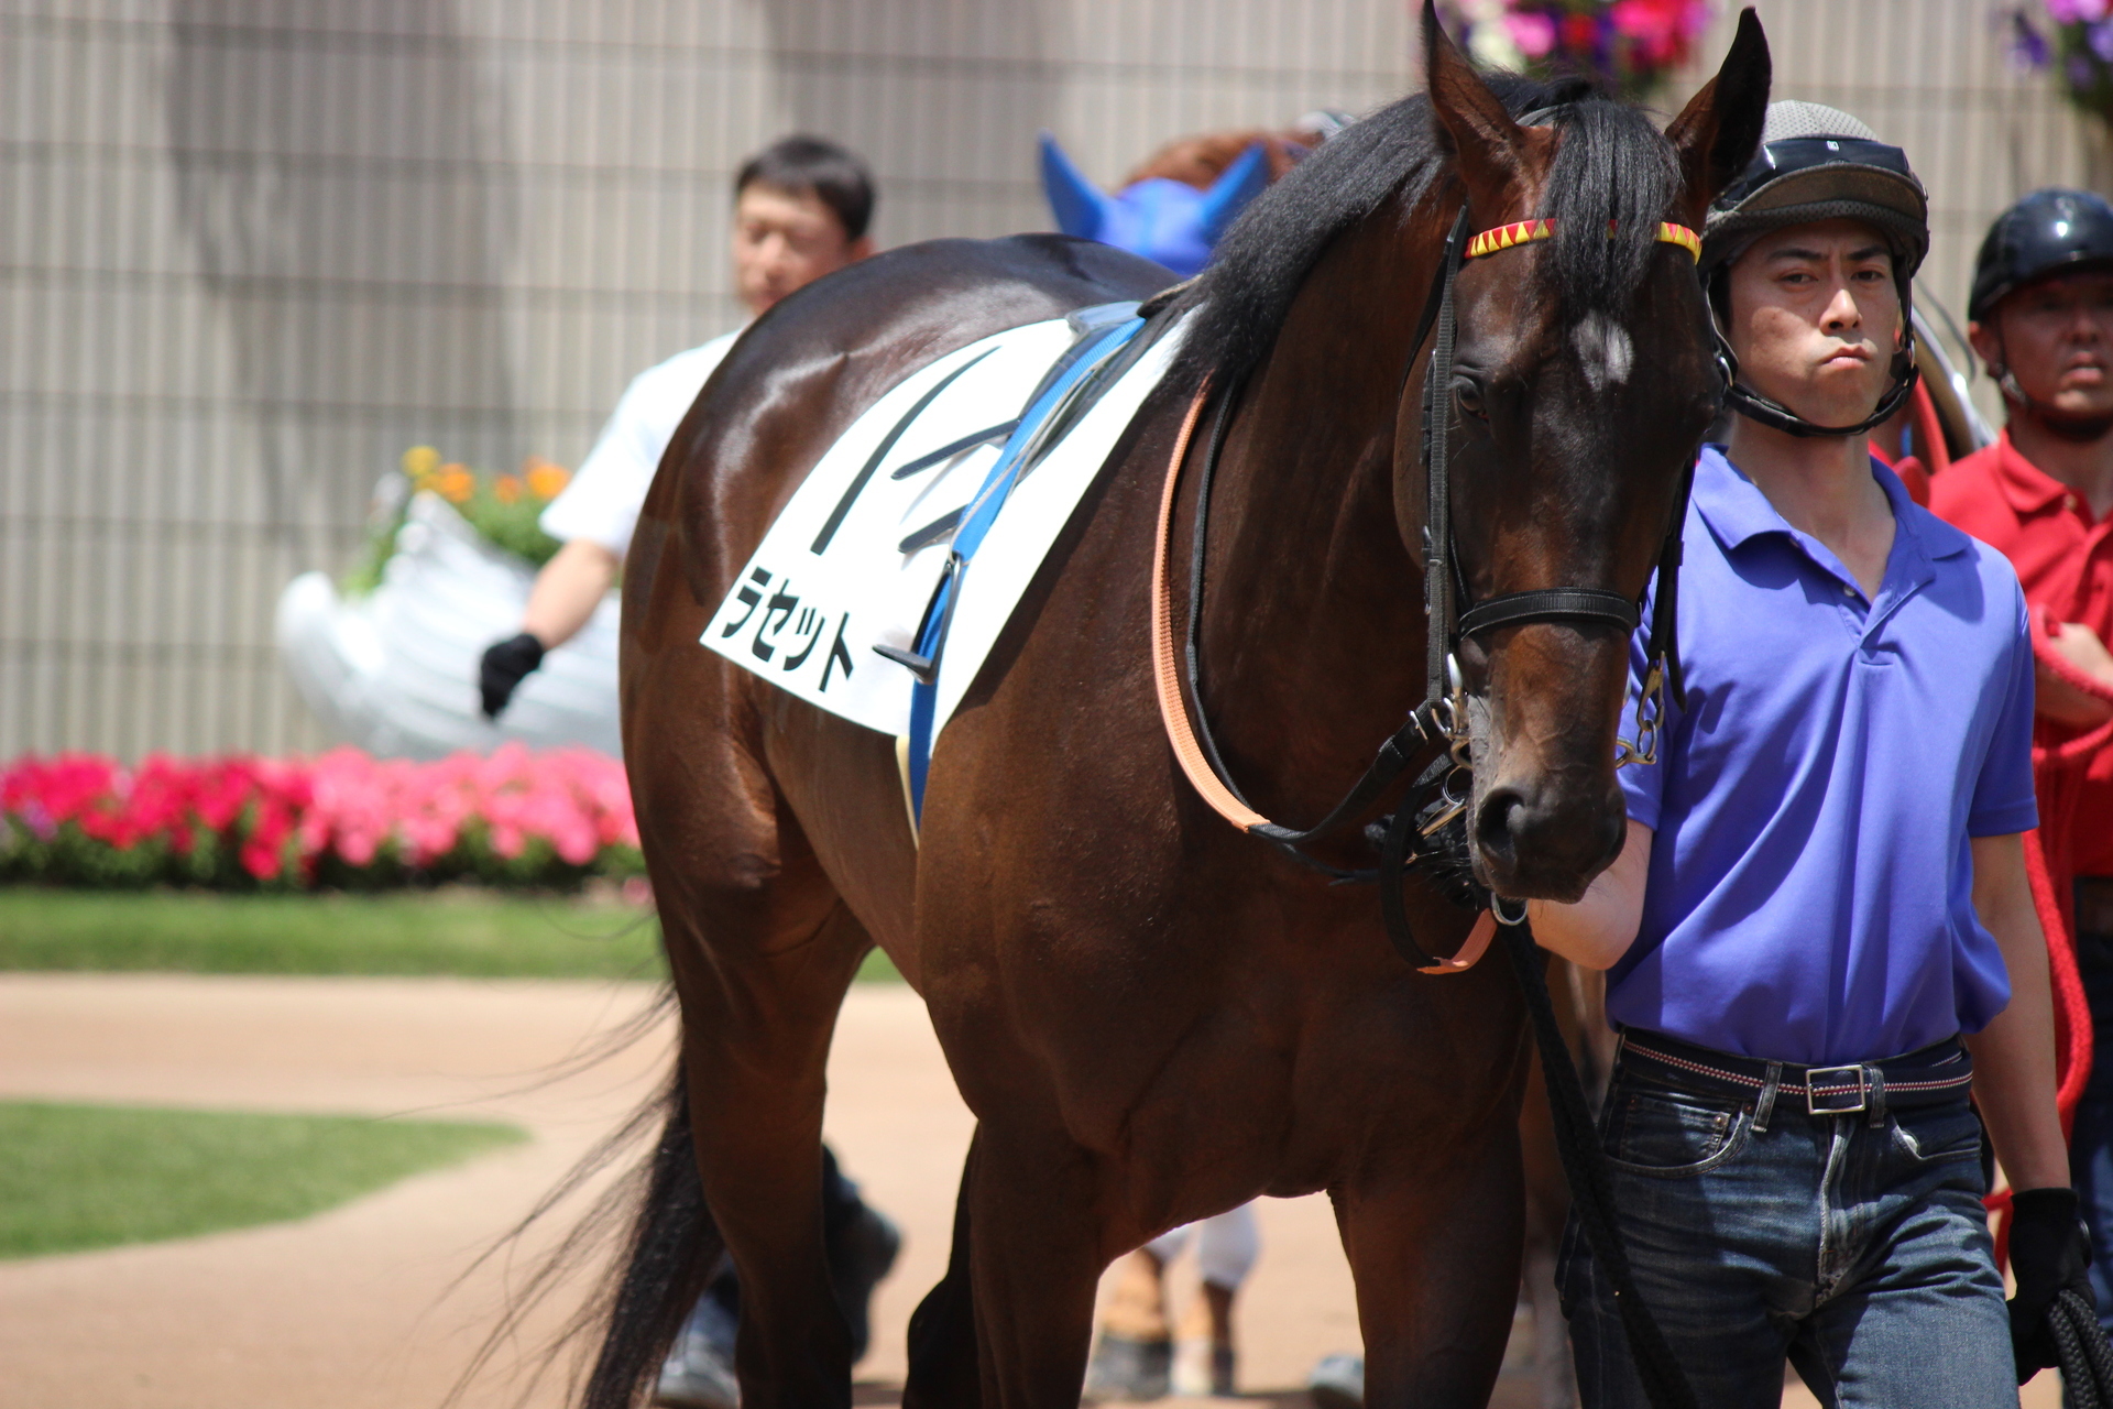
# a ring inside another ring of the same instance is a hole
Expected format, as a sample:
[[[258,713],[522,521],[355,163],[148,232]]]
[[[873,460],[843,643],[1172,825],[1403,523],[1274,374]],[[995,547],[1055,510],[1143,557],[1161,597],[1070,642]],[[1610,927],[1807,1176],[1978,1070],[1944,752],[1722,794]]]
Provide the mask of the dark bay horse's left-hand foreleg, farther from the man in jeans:
[[[1107,1265],[1092,1156],[1061,1132],[985,1124],[968,1185],[983,1403],[1076,1409]]]

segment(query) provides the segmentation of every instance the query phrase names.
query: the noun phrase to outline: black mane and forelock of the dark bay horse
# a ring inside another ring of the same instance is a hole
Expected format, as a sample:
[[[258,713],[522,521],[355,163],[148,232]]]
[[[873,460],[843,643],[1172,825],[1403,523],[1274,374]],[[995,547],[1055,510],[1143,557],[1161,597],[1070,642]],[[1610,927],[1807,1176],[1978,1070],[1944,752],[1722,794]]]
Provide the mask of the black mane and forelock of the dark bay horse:
[[[1568,319],[1619,308],[1642,281],[1657,226],[1680,194],[1671,146],[1648,116],[1589,80],[1485,80],[1513,116],[1559,108],[1553,120],[1562,142],[1536,211],[1557,222],[1547,268]],[[1247,207],[1211,266],[1181,294],[1179,304],[1192,311],[1183,365],[1219,387],[1238,384],[1268,357],[1329,241],[1388,201],[1407,224],[1445,169],[1445,142],[1424,93],[1325,142]],[[1604,234],[1608,222],[1614,239]]]

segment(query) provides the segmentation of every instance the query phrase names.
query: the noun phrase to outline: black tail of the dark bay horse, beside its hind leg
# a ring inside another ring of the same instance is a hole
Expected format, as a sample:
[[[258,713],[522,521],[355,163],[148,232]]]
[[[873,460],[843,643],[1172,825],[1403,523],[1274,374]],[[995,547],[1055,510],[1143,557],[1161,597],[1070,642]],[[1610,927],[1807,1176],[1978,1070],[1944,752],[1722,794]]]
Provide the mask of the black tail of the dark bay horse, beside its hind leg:
[[[634,1409],[640,1403],[725,1251],[712,1210],[704,1206],[680,1058],[661,1092],[661,1107],[666,1124],[644,1170],[644,1200],[623,1240],[623,1272],[602,1308],[602,1348],[581,1409]]]

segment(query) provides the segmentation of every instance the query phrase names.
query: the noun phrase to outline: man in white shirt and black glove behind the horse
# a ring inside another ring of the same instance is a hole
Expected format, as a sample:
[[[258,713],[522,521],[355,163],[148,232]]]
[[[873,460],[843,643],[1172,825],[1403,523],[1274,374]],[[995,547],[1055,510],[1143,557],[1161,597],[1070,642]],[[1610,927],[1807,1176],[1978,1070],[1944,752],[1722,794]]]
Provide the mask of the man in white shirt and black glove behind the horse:
[[[733,281],[750,319],[822,275],[873,253],[873,175],[820,137],[784,137],[733,177]],[[661,454],[742,327],[647,368],[623,391],[602,437],[566,490],[543,509],[543,532],[564,543],[543,566],[518,636],[480,663],[484,714],[497,718],[543,655],[571,640],[617,581],[638,509]],[[837,1158],[822,1151],[822,1223],[837,1301],[852,1325],[852,1358],[866,1352],[868,1301],[900,1248],[896,1225],[858,1198]],[[733,1333],[740,1284],[723,1267],[697,1301],[661,1367],[657,1403],[733,1409]]]

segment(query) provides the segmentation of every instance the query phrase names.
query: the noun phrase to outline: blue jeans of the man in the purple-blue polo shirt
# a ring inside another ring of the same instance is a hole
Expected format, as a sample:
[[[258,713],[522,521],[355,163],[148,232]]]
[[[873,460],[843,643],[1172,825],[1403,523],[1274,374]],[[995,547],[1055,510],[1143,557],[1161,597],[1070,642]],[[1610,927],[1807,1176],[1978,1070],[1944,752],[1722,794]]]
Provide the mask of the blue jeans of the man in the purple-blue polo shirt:
[[[1709,1409],[1777,1409],[1783,1363],[1821,1405],[2016,1409],[1982,1132],[1944,1105],[1811,1115],[1621,1067],[1600,1124],[1638,1291]],[[1646,1409],[1576,1213],[1557,1286],[1585,1409]]]

